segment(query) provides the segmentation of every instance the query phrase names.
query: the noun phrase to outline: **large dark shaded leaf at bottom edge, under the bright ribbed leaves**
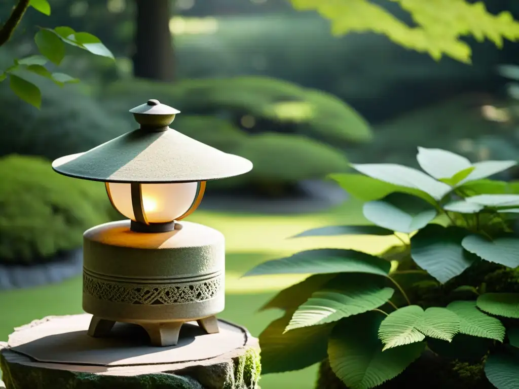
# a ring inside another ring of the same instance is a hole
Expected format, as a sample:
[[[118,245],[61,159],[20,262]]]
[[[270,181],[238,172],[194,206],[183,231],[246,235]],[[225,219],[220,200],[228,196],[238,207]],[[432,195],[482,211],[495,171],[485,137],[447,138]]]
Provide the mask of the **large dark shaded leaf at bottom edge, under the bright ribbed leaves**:
[[[425,350],[413,343],[382,351],[377,328],[383,316],[366,312],[340,321],[328,342],[330,366],[351,389],[371,389],[398,376]]]

